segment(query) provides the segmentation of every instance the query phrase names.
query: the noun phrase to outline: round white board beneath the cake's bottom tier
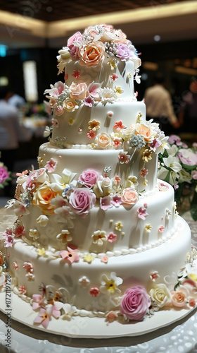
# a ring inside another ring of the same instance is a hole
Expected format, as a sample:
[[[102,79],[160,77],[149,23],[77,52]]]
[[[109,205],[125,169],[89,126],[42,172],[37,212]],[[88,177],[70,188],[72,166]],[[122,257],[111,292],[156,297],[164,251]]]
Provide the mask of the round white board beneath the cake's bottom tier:
[[[25,301],[23,301],[23,310],[21,310],[21,299],[14,293],[11,294],[11,310],[6,310],[5,295],[5,292],[0,293],[0,310],[4,313],[11,311],[11,318],[13,320],[23,323],[35,330],[42,330],[54,335],[65,335],[73,338],[99,339],[144,335],[167,325],[171,325],[189,315],[192,311],[195,311],[195,309],[176,310],[170,308],[169,310],[158,311],[155,315],[151,316],[151,318],[144,318],[144,321],[125,324],[117,321],[109,324],[104,322],[103,318],[83,318],[77,316],[72,318],[71,321],[52,320],[49,322],[49,326],[46,330],[42,328],[41,325],[37,326],[32,324],[34,318],[37,317],[37,312],[33,311],[30,304]]]

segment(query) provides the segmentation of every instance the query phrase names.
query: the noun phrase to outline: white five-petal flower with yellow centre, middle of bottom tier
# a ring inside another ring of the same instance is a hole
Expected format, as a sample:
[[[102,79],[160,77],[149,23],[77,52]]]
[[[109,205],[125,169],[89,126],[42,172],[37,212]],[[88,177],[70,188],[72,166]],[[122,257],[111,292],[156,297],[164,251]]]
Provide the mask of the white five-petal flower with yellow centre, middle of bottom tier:
[[[121,294],[119,285],[122,285],[122,278],[116,277],[115,272],[110,273],[110,278],[106,275],[102,275],[100,291],[110,296],[117,297]]]

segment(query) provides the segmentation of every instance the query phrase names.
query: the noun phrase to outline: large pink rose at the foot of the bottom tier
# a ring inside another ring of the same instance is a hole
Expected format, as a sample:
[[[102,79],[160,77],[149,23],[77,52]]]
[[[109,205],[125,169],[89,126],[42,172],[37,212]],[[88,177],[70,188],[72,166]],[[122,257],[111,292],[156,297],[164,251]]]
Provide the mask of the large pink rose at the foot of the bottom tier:
[[[136,286],[125,291],[120,302],[120,313],[130,320],[141,321],[146,315],[151,299],[143,286]]]

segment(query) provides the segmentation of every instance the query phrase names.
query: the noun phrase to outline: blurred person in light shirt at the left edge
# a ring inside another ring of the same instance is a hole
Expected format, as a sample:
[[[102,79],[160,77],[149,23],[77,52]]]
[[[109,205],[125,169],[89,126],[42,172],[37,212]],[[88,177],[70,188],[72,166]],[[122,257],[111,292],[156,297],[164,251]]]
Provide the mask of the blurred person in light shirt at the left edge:
[[[18,109],[8,104],[10,91],[7,86],[0,86],[0,151],[1,162],[8,171],[13,172],[19,141],[28,141],[32,133],[20,125]],[[9,187],[5,188],[5,196],[9,195]]]

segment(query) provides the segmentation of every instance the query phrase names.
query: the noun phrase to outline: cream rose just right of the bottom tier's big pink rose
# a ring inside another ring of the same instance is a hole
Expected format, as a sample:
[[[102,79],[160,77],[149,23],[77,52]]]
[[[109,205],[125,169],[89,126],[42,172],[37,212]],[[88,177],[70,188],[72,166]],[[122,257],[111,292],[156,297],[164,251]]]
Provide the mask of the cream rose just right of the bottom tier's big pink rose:
[[[170,290],[167,289],[166,285],[160,283],[159,285],[155,285],[149,292],[153,301],[158,304],[159,308],[163,308],[170,301],[171,295]]]

